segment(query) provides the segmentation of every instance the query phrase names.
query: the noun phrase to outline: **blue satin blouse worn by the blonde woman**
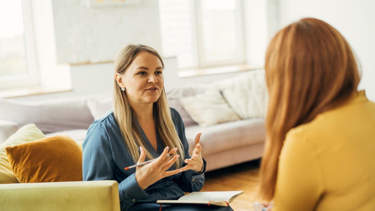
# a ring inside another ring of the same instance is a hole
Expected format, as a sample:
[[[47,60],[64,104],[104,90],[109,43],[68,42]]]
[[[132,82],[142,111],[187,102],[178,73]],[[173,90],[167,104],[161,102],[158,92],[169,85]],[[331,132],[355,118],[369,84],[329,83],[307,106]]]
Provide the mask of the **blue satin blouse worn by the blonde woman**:
[[[185,127],[177,110],[171,108],[172,120],[184,148],[184,159],[190,158],[189,144],[185,136]],[[141,128],[141,127],[139,127]],[[147,144],[147,150],[159,157],[165,146],[159,140],[156,130],[157,152],[148,141],[142,128],[141,136]],[[204,170],[206,162],[204,162]],[[187,170],[160,179],[145,190],[142,190],[135,180],[135,168],[124,170],[135,162],[127,150],[120,128],[115,120],[113,110],[94,121],[87,131],[83,142],[83,180],[116,180],[120,195],[121,210],[142,210],[145,205],[155,203],[156,200],[178,199],[184,192],[199,191],[203,187],[204,173]],[[183,166],[186,164],[183,163]],[[168,170],[175,169],[171,166]]]

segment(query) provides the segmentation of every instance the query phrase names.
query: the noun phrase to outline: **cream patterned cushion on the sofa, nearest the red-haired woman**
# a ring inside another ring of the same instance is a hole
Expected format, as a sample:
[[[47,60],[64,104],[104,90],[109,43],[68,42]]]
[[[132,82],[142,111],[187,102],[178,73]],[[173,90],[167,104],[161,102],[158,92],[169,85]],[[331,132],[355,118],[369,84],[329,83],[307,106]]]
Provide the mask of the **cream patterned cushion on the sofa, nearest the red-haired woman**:
[[[241,119],[264,118],[267,110],[267,87],[264,69],[216,81],[214,87],[220,89],[230,107]]]

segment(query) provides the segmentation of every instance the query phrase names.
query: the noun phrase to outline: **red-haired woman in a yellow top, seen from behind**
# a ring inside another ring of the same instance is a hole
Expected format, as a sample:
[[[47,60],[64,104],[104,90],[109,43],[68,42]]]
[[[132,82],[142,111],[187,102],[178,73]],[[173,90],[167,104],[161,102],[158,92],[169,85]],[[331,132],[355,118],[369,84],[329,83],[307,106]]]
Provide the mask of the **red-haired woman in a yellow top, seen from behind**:
[[[266,53],[267,142],[256,211],[375,210],[375,103],[345,38],[305,18]]]

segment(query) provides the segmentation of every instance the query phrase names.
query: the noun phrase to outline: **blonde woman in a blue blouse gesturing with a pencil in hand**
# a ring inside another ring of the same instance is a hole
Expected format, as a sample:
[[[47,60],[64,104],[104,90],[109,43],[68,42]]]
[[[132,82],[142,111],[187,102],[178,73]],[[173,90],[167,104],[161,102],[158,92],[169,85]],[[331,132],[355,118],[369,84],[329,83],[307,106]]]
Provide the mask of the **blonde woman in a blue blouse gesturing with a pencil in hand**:
[[[189,156],[179,113],[169,108],[163,87],[164,63],[145,45],[128,45],[115,62],[114,108],[94,121],[83,143],[83,179],[116,180],[121,210],[231,210],[162,205],[201,190],[206,163],[200,134]],[[167,155],[173,155],[166,157]],[[151,163],[124,170],[136,163]]]

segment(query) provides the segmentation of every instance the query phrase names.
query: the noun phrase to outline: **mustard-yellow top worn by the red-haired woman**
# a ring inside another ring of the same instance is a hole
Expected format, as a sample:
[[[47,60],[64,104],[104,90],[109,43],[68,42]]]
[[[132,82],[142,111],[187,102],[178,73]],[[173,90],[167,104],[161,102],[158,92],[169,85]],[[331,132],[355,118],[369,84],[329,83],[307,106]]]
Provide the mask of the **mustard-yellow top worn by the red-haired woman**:
[[[365,91],[291,129],[273,211],[375,210],[375,103]]]

